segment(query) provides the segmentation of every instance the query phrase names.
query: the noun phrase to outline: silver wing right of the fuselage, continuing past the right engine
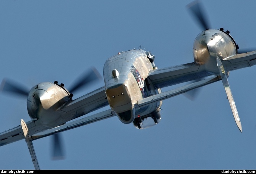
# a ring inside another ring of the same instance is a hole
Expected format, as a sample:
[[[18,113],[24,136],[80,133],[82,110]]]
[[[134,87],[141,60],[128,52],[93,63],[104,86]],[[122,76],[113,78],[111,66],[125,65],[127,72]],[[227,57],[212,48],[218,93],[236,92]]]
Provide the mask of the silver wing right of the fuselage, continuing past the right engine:
[[[250,67],[256,64],[256,51],[233,55],[222,60],[226,72]],[[216,64],[217,67],[217,64]],[[212,76],[205,64],[188,63],[150,71],[148,78],[157,87],[163,88],[183,82]],[[215,74],[218,75],[218,74]]]

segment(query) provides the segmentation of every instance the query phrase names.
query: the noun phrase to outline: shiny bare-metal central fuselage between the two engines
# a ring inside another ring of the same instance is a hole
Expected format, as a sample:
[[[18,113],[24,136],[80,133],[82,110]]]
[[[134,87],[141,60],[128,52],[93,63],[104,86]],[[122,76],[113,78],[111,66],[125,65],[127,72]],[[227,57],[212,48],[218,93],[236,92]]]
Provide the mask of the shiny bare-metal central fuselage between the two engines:
[[[152,113],[159,112],[161,102],[152,103],[143,108],[136,106],[142,98],[161,92],[147,79],[149,71],[154,68],[148,53],[143,50],[118,53],[104,64],[103,74],[108,103],[121,122],[129,124],[134,119],[140,119],[140,128],[152,126],[158,122],[158,120],[153,121]],[[147,122],[150,120],[152,124],[141,124],[143,116],[145,118],[150,116],[152,119],[148,119]],[[157,119],[160,120],[159,113]],[[137,124],[138,122],[135,121],[134,125]]]

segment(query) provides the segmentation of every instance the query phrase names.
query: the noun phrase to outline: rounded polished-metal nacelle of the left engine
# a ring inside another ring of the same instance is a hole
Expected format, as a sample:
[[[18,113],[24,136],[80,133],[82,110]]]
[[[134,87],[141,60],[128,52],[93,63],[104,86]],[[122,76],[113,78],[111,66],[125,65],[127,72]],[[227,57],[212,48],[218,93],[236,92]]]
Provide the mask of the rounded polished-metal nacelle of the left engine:
[[[28,114],[31,119],[40,120],[42,126],[59,126],[65,122],[61,117],[62,111],[59,111],[59,108],[64,103],[72,101],[72,96],[64,88],[64,84],[58,85],[57,81],[39,83],[29,92],[27,98]]]

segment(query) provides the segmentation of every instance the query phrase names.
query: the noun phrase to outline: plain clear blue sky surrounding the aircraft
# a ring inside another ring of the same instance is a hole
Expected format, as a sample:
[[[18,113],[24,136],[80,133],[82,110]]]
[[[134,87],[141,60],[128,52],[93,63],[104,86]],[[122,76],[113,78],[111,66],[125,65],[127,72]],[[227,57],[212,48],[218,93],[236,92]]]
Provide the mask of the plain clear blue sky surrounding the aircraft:
[[[71,87],[87,68],[103,76],[105,60],[133,48],[151,51],[158,68],[194,61],[202,31],[186,9],[191,0],[2,0],[0,80],[31,89],[39,82]],[[256,48],[254,0],[203,1],[213,29],[229,30],[242,48]],[[255,49],[256,50],[256,49]],[[41,169],[256,169],[256,66],[228,78],[243,133],[222,82],[195,100],[163,101],[161,122],[135,129],[117,117],[62,132],[65,159],[51,159],[51,137],[33,141]],[[78,98],[104,85],[74,93]],[[103,108],[100,111],[108,109]],[[0,132],[29,121],[26,98],[0,94]],[[34,169],[25,140],[0,147],[0,169]]]

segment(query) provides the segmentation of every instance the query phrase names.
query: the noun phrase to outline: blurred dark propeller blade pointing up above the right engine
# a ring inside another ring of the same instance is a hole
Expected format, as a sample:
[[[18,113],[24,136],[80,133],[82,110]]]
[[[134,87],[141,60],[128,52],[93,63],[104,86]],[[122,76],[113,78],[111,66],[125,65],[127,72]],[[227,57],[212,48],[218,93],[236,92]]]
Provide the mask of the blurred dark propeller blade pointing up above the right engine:
[[[203,30],[210,29],[210,25],[208,23],[207,15],[204,11],[202,3],[199,0],[195,0],[188,5],[186,5],[188,10],[192,13],[192,15],[199,22]]]

